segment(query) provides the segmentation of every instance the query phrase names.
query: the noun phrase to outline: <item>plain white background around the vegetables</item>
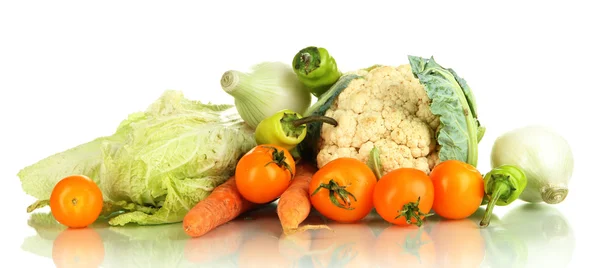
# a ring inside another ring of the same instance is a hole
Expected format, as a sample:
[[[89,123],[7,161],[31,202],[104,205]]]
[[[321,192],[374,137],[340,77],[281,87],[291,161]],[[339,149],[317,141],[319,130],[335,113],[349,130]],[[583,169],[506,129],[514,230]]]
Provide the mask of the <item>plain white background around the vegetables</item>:
[[[557,129],[575,154],[570,193],[558,205],[576,235],[572,265],[595,263],[600,19],[592,3],[3,1],[2,261],[52,265],[19,248],[33,233],[25,213],[33,199],[19,169],[111,134],[166,89],[232,103],[219,85],[224,71],[289,63],[316,45],[343,71],[404,64],[407,55],[456,70],[487,127],[481,170],[501,133],[526,124]]]

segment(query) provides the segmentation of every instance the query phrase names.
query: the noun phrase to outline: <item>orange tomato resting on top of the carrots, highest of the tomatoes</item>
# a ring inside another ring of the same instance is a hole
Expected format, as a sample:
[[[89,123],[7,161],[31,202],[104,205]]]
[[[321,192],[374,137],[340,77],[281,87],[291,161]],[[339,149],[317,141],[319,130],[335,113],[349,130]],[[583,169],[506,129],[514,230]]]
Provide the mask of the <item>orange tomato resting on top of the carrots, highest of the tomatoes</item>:
[[[235,182],[248,201],[265,204],[279,198],[296,174],[296,163],[283,147],[264,144],[248,151],[235,169]]]

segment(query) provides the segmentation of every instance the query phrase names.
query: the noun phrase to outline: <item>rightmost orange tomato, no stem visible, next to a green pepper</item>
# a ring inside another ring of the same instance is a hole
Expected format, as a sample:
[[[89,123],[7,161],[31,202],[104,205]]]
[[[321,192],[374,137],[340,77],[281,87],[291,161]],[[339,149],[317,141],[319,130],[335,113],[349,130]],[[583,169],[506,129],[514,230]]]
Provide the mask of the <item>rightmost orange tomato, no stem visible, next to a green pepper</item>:
[[[471,216],[484,196],[483,176],[462,161],[446,160],[429,174],[435,190],[433,210],[446,219],[465,219]]]

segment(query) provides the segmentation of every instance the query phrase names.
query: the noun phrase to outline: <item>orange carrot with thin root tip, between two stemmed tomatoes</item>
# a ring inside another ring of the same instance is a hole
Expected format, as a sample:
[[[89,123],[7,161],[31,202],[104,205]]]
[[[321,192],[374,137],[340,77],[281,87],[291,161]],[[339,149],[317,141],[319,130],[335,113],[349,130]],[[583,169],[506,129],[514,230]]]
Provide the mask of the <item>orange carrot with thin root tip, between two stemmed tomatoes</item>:
[[[329,227],[325,225],[306,225],[299,228],[300,224],[306,220],[310,214],[312,208],[308,186],[315,172],[317,172],[317,168],[308,163],[297,165],[296,175],[294,176],[292,183],[279,198],[277,203],[277,216],[279,217],[285,235],[290,235],[306,229],[329,229]]]

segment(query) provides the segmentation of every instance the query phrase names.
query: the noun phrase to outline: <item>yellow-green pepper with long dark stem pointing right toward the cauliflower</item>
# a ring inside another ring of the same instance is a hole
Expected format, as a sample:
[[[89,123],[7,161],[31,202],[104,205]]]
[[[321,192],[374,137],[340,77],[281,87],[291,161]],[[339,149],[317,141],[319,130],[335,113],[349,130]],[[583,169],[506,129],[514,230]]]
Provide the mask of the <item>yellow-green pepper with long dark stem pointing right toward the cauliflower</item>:
[[[301,114],[286,109],[258,123],[254,132],[254,138],[258,145],[274,144],[291,151],[306,137],[305,124],[316,121],[337,126],[337,121],[331,117],[302,117]]]

